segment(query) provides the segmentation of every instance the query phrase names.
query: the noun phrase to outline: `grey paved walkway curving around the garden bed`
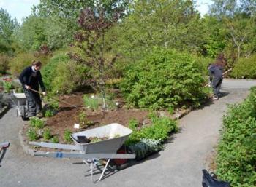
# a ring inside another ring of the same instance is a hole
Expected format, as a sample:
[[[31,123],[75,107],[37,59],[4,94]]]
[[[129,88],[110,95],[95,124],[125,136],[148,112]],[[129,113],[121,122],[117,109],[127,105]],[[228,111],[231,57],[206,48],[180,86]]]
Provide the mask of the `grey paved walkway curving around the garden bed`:
[[[0,142],[8,140],[10,149],[0,167],[0,187],[200,187],[206,157],[217,144],[227,103],[241,102],[256,81],[225,80],[225,96],[209,106],[192,111],[179,121],[181,132],[174,135],[164,151],[125,170],[91,183],[89,168],[79,159],[50,159],[23,153],[18,132],[23,122],[11,109],[0,119]],[[94,178],[99,175],[94,175]]]

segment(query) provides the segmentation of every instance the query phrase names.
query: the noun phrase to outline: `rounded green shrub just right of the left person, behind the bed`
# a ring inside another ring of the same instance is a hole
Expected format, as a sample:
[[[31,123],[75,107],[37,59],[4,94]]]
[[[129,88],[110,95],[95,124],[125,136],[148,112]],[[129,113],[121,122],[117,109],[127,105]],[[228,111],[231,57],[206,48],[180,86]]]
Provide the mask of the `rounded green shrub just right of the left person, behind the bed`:
[[[42,68],[45,86],[54,93],[70,93],[84,84],[88,79],[89,68],[70,60],[64,52],[56,53]]]

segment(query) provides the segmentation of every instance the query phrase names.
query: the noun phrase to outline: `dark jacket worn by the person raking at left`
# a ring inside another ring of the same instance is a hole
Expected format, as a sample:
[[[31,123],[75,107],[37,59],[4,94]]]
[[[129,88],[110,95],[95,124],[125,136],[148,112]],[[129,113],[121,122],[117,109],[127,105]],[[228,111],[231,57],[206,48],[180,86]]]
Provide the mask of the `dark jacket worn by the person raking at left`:
[[[42,76],[40,71],[33,72],[32,66],[25,68],[19,76],[20,83],[22,84],[23,88],[25,85],[31,87],[31,89],[39,90],[39,84],[42,89],[42,92],[45,92],[45,86],[42,82]]]

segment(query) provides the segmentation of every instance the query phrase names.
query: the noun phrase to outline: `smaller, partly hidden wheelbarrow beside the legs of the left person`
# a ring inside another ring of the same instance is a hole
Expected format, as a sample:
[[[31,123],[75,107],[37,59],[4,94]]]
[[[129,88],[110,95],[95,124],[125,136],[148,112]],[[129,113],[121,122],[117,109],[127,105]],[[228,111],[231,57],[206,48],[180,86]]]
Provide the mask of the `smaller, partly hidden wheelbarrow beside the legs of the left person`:
[[[16,107],[17,116],[20,116],[23,120],[27,119],[28,102],[24,93],[12,93],[10,97],[12,103]]]

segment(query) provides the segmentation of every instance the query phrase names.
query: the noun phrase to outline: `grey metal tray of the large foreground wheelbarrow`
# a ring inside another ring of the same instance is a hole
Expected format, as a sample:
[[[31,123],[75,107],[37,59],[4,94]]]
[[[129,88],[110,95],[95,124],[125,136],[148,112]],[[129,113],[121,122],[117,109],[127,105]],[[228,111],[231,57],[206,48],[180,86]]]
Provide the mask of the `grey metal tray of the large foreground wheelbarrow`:
[[[120,148],[124,141],[127,140],[129,135],[132,133],[127,127],[124,127],[121,124],[113,123],[107,124],[102,127],[97,127],[91,130],[85,130],[82,132],[75,132],[72,134],[72,139],[75,144],[81,146],[81,149],[85,152],[85,154],[97,154],[97,153],[105,153],[105,154],[116,154],[118,148]],[[118,135],[118,137],[116,137]],[[108,140],[100,140],[98,142],[91,143],[78,143],[78,136],[86,136],[97,137],[97,138],[105,138],[108,137]]]

